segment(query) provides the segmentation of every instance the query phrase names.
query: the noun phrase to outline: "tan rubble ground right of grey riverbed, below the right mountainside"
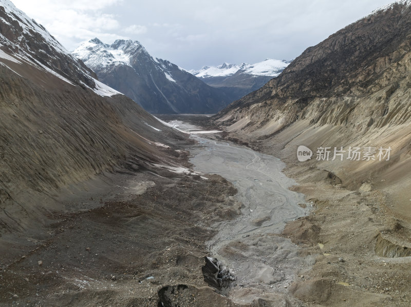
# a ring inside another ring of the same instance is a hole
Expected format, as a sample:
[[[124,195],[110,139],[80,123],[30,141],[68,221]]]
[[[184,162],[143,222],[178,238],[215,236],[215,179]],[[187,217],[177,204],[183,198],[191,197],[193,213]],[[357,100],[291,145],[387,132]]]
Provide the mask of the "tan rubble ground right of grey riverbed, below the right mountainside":
[[[247,135],[223,136],[263,153],[272,154],[275,147]],[[348,190],[325,170],[304,167],[296,158],[286,164],[285,174],[298,183],[290,189],[303,193],[314,207],[309,216],[287,223],[282,233],[301,248],[301,255],[315,257],[311,270],[297,273],[290,293],[308,306],[409,306],[408,212],[394,211],[384,191]]]

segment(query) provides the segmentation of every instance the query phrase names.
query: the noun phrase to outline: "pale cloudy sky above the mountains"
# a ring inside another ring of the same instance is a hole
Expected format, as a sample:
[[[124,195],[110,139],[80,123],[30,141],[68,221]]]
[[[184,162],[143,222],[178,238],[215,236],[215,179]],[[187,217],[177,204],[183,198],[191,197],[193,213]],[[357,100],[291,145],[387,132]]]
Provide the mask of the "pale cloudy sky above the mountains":
[[[12,0],[69,51],[90,38],[139,42],[185,68],[292,59],[394,0]]]

